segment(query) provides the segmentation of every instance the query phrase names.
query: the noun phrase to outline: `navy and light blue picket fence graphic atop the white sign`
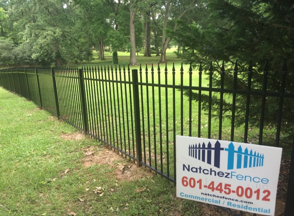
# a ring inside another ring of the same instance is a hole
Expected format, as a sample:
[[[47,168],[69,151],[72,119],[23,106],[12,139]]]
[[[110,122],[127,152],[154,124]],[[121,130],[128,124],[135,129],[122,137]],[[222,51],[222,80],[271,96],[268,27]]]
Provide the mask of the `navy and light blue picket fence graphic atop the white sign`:
[[[213,166],[220,168],[221,161],[221,151],[225,150],[228,152],[227,156],[227,169],[241,169],[241,168],[250,168],[250,167],[258,167],[263,166],[264,163],[264,154],[253,152],[252,149],[248,149],[246,147],[242,149],[242,146],[239,145],[237,150],[235,150],[234,144],[231,142],[228,148],[222,148],[221,143],[217,140],[215,142],[214,147],[211,146],[211,143],[208,142],[207,146],[203,142],[189,145],[189,156],[195,159],[201,160],[211,165],[211,161],[213,160]],[[213,155],[213,158],[212,158]],[[237,158],[237,164],[234,164],[234,159]]]

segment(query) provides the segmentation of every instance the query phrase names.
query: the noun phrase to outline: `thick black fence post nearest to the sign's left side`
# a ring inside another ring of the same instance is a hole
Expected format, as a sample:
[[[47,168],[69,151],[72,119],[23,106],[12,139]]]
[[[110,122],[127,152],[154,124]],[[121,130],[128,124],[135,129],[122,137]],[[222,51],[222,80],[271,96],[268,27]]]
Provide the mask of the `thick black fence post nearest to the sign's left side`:
[[[140,122],[140,100],[138,86],[138,70],[132,70],[133,81],[133,101],[134,101],[134,121],[135,121],[135,137],[136,137],[136,155],[137,165],[141,166],[142,161],[142,143],[141,143],[141,122]]]

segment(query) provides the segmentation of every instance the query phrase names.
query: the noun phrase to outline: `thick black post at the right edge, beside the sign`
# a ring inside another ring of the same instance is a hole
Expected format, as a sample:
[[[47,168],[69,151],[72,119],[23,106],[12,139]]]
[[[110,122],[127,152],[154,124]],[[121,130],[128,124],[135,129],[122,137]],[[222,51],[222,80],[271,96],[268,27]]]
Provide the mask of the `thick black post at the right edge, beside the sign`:
[[[294,139],[293,139],[293,143],[292,143],[292,154],[291,154],[290,171],[289,171],[289,179],[288,179],[288,188],[287,188],[284,216],[293,215],[293,212],[294,212],[293,203],[294,203]]]

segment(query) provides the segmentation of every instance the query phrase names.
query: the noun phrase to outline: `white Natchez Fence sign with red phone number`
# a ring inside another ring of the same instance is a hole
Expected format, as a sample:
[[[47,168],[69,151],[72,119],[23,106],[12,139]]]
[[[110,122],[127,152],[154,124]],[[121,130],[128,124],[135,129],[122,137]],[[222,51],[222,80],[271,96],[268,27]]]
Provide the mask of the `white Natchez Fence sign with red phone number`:
[[[177,136],[177,197],[274,215],[282,148]]]

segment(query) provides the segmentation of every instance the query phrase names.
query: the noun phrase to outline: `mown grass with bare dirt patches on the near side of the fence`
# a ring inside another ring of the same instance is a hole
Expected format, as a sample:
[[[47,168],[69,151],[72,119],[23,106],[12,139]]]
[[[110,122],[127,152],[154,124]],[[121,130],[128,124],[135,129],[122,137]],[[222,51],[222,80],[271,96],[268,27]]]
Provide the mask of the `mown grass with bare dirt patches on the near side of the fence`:
[[[88,149],[99,155],[103,145],[64,139],[73,127],[3,89],[0,101],[0,215],[200,214],[197,202],[175,198],[173,184],[142,168],[138,178],[119,180],[114,172],[125,159],[84,167]]]

